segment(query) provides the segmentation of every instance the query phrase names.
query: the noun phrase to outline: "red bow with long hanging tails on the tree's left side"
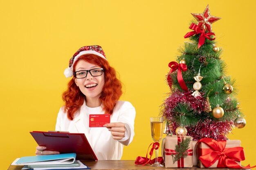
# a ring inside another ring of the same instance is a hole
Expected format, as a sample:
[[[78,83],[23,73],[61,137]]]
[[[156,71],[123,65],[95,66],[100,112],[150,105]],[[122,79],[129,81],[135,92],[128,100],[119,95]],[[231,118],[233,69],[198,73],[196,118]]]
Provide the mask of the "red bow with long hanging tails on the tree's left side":
[[[178,69],[178,73],[177,73],[178,82],[179,82],[179,84],[180,84],[180,87],[181,87],[184,91],[187,92],[189,89],[188,89],[188,87],[186,87],[186,84],[185,84],[185,82],[184,82],[184,80],[183,80],[183,78],[182,78],[182,73],[181,73],[181,70],[182,70],[183,72],[185,72],[185,71],[187,70],[186,64],[182,64],[182,63],[178,64],[177,62],[172,61],[172,62],[170,62],[168,65],[169,65],[169,67],[171,68],[169,74],[171,74],[172,72],[174,72],[175,70]],[[168,81],[168,85],[169,85],[170,88],[171,88],[171,86],[172,86],[172,80],[171,80],[171,76],[170,76],[170,75],[168,75],[167,81]]]

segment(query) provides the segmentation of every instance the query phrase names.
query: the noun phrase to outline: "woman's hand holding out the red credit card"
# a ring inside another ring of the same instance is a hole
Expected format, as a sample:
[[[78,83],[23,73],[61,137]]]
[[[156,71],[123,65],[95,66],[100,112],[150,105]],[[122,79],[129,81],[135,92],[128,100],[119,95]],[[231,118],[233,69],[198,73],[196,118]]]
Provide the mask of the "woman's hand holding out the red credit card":
[[[104,124],[103,127],[106,127],[109,131],[111,131],[113,139],[121,140],[125,135],[125,126],[122,122],[107,123]]]

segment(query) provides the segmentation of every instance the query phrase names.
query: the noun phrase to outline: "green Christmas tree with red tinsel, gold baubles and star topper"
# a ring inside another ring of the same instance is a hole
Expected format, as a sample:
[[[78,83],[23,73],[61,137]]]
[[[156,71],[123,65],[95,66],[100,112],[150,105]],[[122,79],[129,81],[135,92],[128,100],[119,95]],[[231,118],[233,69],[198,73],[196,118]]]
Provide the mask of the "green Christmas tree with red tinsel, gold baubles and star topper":
[[[203,13],[191,14],[195,21],[184,36],[190,41],[179,49],[177,62],[168,65],[171,92],[161,113],[166,133],[189,135],[193,140],[227,139],[232,128],[243,128],[246,122],[233,90],[235,81],[225,75],[222,48],[214,41],[211,25],[220,17],[212,16],[208,5]]]

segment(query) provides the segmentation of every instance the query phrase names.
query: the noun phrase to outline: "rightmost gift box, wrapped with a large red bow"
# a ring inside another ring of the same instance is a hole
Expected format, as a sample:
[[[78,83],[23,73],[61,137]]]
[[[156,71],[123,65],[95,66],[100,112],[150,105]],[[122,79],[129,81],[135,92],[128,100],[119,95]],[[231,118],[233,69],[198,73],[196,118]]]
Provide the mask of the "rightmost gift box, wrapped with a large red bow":
[[[200,139],[197,144],[199,168],[240,168],[245,154],[240,140]]]

